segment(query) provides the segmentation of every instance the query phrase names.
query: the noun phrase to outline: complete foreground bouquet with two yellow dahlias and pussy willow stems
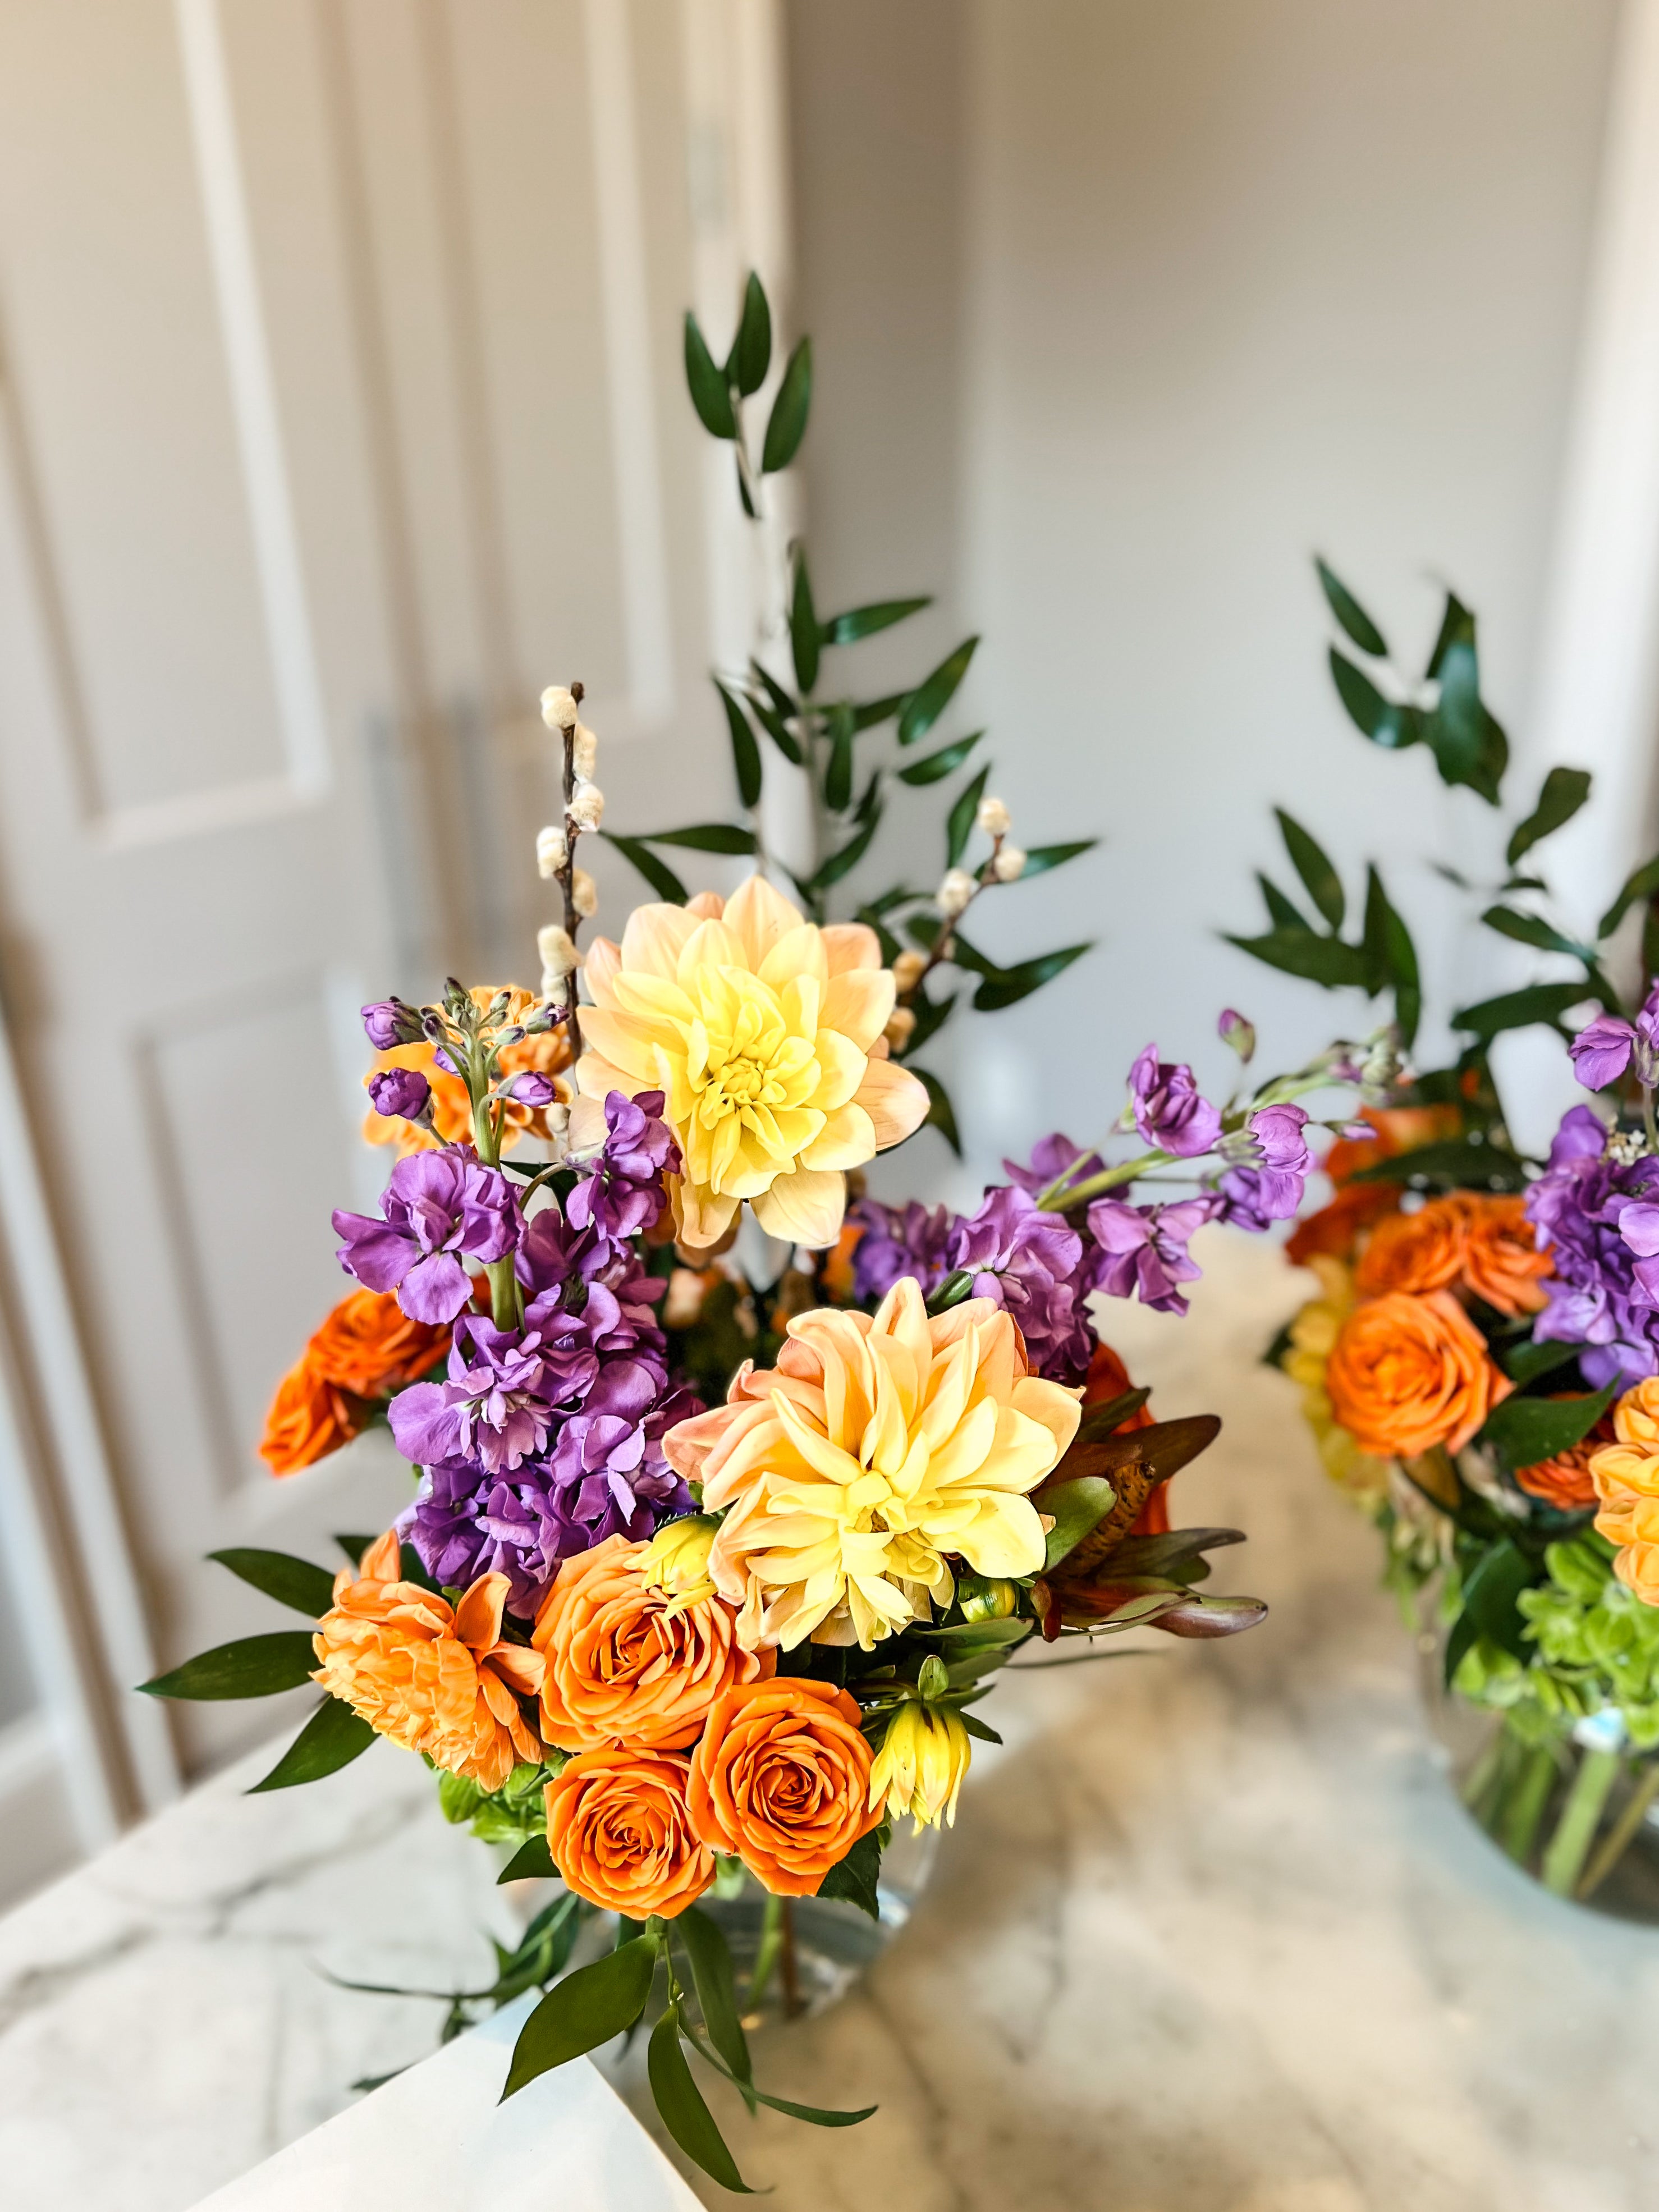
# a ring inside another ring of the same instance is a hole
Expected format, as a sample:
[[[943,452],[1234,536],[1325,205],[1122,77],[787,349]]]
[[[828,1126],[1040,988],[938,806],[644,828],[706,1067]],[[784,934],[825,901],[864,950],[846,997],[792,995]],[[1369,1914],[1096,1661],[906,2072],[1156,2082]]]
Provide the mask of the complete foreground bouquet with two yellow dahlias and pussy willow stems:
[[[768,354],[754,281],[723,369],[688,323],[692,396],[737,447],[750,513],[810,400],[803,341],[757,469],[741,405]],[[557,1882],[491,1986],[453,1995],[445,2033],[540,1989],[513,2095],[650,2015],[661,2117],[728,2188],[743,2183],[688,2053],[750,2110],[865,2117],[768,2097],[741,2022],[774,1962],[787,1978],[796,1900],[878,1916],[894,1825],[956,1818],[973,1743],[998,1741],[975,1710],[995,1672],[1055,1641],[1088,1657],[1135,1626],[1214,1637],[1261,1619],[1201,1588],[1203,1553],[1237,1533],[1170,1528],[1168,1478],[1219,1425],[1152,1420],[1091,1301],[1183,1312],[1201,1221],[1290,1217],[1310,1170],[1292,1099],[1327,1075],[1214,1106],[1148,1046],[1121,1117],[1133,1157],[1108,1166],[1055,1135],[967,1217],[869,1199],[858,1172],[878,1152],[925,1121],[953,1137],[942,1088],[909,1064],[951,1011],[929,993],[940,971],[967,969],[995,1011],[1084,947],[1000,967],[964,945],[967,907],[1040,858],[1011,847],[984,770],[951,801],[931,900],[843,889],[847,845],[796,898],[772,860],[730,896],[670,876],[661,845],[765,858],[757,728],[834,823],[854,734],[894,719],[902,750],[967,668],[971,644],[896,699],[814,703],[821,650],[918,602],[821,622],[799,551],[792,573],[799,690],[759,657],[721,679],[750,827],[602,832],[664,896],[586,947],[597,739],[582,686],[544,695],[564,805],[538,838],[562,902],[540,991],[449,982],[363,1009],[367,1133],[396,1157],[378,1212],[334,1214],[354,1290],[279,1385],[263,1442],[290,1475],[385,1425],[409,1504],[341,1537],[334,1575],[217,1553],[310,1626],[146,1686],[221,1699],[314,1681],[259,1790],[321,1781],[376,1736],[420,1754],[445,1814],[507,1849],[504,1882]],[[938,783],[975,743],[896,774]],[[852,805],[860,852],[883,776]],[[1223,1033],[1248,1060],[1243,1024]],[[1188,1197],[1135,1199],[1170,1170]],[[750,1887],[765,1927],[739,1995],[717,1907]]]

